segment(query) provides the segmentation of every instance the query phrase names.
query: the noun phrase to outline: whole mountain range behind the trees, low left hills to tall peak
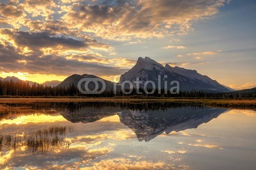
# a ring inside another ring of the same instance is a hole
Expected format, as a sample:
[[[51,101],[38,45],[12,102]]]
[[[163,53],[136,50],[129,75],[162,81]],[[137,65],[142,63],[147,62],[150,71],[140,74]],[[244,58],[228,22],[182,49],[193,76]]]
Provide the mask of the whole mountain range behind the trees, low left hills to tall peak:
[[[157,63],[153,59],[150,59],[148,57],[145,58],[138,58],[138,61],[136,65],[134,65],[128,72],[125,72],[121,75],[120,81],[118,83],[107,81],[102,79],[106,83],[106,90],[113,89],[113,85],[116,84],[117,88],[120,89],[120,84],[122,84],[125,81],[131,81],[133,83],[133,86],[136,87],[135,81],[136,79],[139,79],[141,81],[140,87],[143,87],[145,82],[152,81],[156,84],[156,88],[158,88],[159,80],[158,77],[161,77],[160,79],[160,88],[164,88],[164,82],[167,82],[167,89],[172,88],[173,85],[170,85],[170,82],[172,81],[179,81],[180,85],[180,91],[204,91],[204,92],[210,92],[210,93],[232,93],[234,89],[228,88],[225,85],[220,84],[219,82],[212,80],[210,77],[207,77],[207,75],[202,75],[196,70],[188,70],[185,68],[180,68],[178,66],[172,67],[170,65],[161,65],[160,63]],[[55,86],[55,87],[65,87],[68,88],[70,85],[74,84],[75,87],[77,87],[78,82],[83,79],[93,79],[93,78],[100,78],[95,75],[78,75],[74,74],[64,81],[47,81],[43,84],[46,86]],[[101,78],[100,78],[101,79]],[[19,81],[17,77],[6,77],[1,78],[0,80],[5,81]],[[27,81],[30,85],[34,84],[35,82]],[[36,83],[37,84],[37,83]],[[82,84],[82,86],[84,83]],[[102,88],[102,85],[100,85],[100,88]],[[126,84],[129,85],[129,84]],[[151,84],[148,84],[148,88],[150,88]],[[89,83],[89,88],[94,89],[95,84]],[[129,86],[125,86],[125,88],[129,88]],[[246,93],[245,91],[241,91],[241,93]]]

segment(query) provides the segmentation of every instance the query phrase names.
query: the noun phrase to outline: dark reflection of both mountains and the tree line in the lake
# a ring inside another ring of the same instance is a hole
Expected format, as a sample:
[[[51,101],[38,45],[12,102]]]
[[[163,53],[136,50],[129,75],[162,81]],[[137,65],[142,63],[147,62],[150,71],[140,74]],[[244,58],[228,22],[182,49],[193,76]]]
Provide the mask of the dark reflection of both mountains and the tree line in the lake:
[[[20,104],[12,104],[9,107],[28,109],[26,105]],[[41,110],[47,114],[54,114],[53,111],[56,111],[72,123],[90,123],[117,113],[120,122],[131,128],[139,141],[150,141],[163,132],[169,134],[172,131],[179,132],[188,128],[196,128],[198,125],[207,123],[227,111],[227,109],[203,107],[200,104],[163,102],[145,104],[53,103],[35,104],[32,107],[30,106],[29,109],[31,111]],[[13,114],[12,111],[10,112]],[[20,109],[20,114],[22,114],[22,109]],[[19,114],[16,112],[15,116],[19,116]],[[2,118],[6,118],[6,114],[3,114]]]

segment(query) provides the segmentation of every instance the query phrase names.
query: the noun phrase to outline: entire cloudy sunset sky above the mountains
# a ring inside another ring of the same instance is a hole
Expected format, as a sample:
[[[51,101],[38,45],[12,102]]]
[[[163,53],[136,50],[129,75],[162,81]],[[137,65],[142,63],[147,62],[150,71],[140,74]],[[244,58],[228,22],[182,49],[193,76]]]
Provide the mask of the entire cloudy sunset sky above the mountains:
[[[253,88],[255,17],[253,0],[1,0],[0,77],[113,81],[148,56]]]

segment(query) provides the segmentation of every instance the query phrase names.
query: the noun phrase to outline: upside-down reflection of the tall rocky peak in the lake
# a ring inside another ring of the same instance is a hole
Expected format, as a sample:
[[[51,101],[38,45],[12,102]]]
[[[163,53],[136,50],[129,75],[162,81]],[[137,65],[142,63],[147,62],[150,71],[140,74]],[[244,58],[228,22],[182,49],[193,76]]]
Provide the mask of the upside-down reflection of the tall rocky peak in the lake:
[[[157,135],[170,134],[189,128],[197,128],[217,118],[228,109],[180,107],[165,111],[132,111],[124,110],[118,113],[120,122],[137,135],[139,141],[150,141]]]

